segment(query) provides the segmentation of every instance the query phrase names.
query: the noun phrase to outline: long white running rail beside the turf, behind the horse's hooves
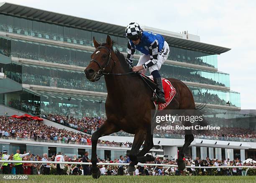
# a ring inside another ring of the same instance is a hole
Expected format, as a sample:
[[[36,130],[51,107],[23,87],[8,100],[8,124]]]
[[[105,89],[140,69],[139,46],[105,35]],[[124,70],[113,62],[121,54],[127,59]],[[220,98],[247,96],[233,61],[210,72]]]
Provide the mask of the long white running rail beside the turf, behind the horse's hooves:
[[[67,162],[67,161],[17,161],[17,160],[0,160],[0,163],[52,163],[52,164],[79,164],[79,165],[92,165],[92,163],[83,162]],[[3,164],[2,164],[3,165]],[[0,166],[0,168],[2,167]],[[97,165],[129,165],[129,163],[97,163]],[[138,163],[137,166],[162,166],[162,167],[178,167],[178,165],[169,164],[154,164],[154,163]],[[71,166],[69,167],[69,169]],[[250,168],[256,168],[256,166],[186,166],[186,168],[247,168],[245,175]],[[69,171],[68,171],[69,172]]]

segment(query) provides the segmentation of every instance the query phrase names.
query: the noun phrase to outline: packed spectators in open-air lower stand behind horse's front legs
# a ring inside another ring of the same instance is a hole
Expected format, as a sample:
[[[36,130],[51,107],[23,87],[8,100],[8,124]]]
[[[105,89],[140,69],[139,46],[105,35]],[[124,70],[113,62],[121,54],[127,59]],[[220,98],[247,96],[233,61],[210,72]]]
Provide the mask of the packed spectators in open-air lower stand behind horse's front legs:
[[[44,125],[42,122],[28,119],[16,119],[0,116],[0,138],[9,137],[16,140],[44,140],[46,142],[76,143],[91,145],[91,136],[84,133],[75,133],[65,129]],[[99,140],[103,146],[129,147],[121,142]],[[127,144],[127,143],[126,143]]]

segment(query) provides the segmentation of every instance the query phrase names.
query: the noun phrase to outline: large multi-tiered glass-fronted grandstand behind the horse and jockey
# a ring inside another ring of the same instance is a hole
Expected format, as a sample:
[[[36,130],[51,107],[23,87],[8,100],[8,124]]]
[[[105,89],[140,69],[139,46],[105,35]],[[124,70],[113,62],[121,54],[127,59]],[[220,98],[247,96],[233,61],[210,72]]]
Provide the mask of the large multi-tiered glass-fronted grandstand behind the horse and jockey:
[[[105,81],[92,83],[84,76],[84,68],[95,49],[92,38],[95,36],[104,42],[110,35],[117,42],[113,48],[126,54],[124,29],[120,25],[0,3],[0,68],[6,75],[0,80],[0,115],[40,115],[45,118],[44,122],[49,119],[48,127],[57,122],[56,131],[69,127],[64,141],[59,137],[56,141],[51,140],[51,134],[36,140],[38,135],[33,133],[31,137],[9,135],[1,139],[0,151],[9,149],[14,152],[20,148],[34,154],[61,151],[70,156],[91,152],[90,140],[84,142],[78,138],[69,143],[67,140],[75,132],[90,139],[102,122],[98,121],[105,118]],[[170,46],[168,60],[161,67],[162,76],[174,77],[187,84],[196,104],[205,103],[206,109],[211,111],[207,117],[217,119],[223,127],[220,134],[197,134],[186,155],[193,159],[207,156],[211,159],[255,159],[255,114],[241,112],[240,94],[230,91],[229,74],[218,71],[217,56],[230,48],[202,43],[199,36],[187,32],[174,33],[146,26],[143,30],[161,33]],[[139,54],[134,55],[135,64]],[[3,117],[2,122],[3,119],[10,118]],[[87,124],[94,120],[97,124]],[[35,128],[43,125],[38,122],[29,124]],[[100,139],[104,143],[101,141],[97,155],[102,159],[125,155],[130,150],[128,142],[133,141],[132,135],[125,132]],[[154,144],[153,155],[177,158],[184,135],[156,132]]]

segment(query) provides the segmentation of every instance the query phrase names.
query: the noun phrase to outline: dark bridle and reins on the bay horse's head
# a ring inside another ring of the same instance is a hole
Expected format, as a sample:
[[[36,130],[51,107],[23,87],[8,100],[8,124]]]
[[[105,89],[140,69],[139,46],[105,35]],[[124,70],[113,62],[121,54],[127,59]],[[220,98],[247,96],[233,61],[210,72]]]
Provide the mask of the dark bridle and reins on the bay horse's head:
[[[99,47],[97,47],[96,48],[96,50],[98,49],[98,48],[104,48],[105,50],[107,50],[108,51],[108,53],[109,53],[109,56],[108,56],[108,61],[104,64],[104,66],[101,66],[100,65],[100,63],[99,63],[99,61],[97,61],[97,60],[95,60],[95,59],[92,59],[91,61],[90,61],[90,63],[91,62],[95,62],[98,66],[99,66],[99,68],[100,68],[100,70],[99,71],[97,71],[97,74],[99,75],[99,77],[97,78],[97,80],[96,81],[98,81],[102,76],[107,76],[107,75],[110,75],[110,74],[112,74],[112,75],[128,75],[128,74],[133,74],[134,72],[127,72],[127,73],[118,73],[118,74],[114,74],[114,73],[112,73],[112,70],[113,70],[113,67],[115,66],[115,60],[112,58],[112,56],[111,56],[111,48],[109,49],[109,48],[107,48],[106,46],[99,46]],[[110,72],[104,72],[105,70],[106,70],[106,67],[110,64],[110,60],[113,60],[114,61],[114,64],[113,64],[113,66],[111,67],[110,66]]]

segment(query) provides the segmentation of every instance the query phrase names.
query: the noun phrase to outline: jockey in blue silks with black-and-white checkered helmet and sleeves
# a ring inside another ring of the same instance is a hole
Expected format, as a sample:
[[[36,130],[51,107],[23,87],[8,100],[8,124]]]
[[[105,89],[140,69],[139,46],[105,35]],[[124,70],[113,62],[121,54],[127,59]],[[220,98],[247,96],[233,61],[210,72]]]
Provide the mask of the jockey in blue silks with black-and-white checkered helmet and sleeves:
[[[157,85],[156,93],[159,98],[156,102],[166,103],[159,70],[161,65],[168,58],[170,51],[168,43],[164,41],[163,36],[159,34],[148,31],[144,32],[138,23],[130,23],[125,29],[125,36],[129,39],[127,60],[131,64],[133,63],[135,49],[142,53],[137,66],[133,67],[133,71],[143,70],[141,73],[145,74],[146,69],[149,69],[149,72]]]

